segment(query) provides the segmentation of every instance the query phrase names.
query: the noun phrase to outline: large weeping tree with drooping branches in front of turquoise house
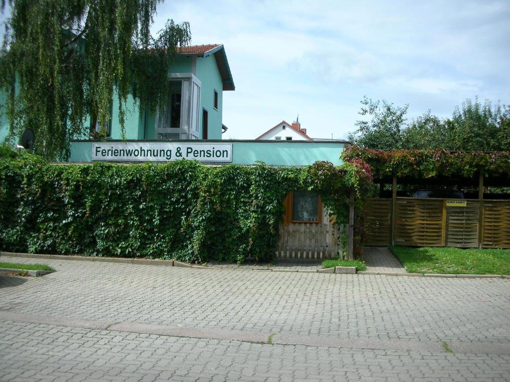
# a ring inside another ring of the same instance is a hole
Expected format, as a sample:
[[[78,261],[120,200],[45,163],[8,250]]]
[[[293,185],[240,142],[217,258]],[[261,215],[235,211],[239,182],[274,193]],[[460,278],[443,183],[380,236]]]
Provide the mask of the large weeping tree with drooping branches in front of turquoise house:
[[[10,134],[36,134],[35,151],[66,158],[70,140],[87,133],[87,116],[110,119],[114,94],[119,123],[131,93],[155,112],[167,96],[176,49],[190,41],[189,24],[168,20],[150,33],[162,0],[9,0],[11,16],[0,57]],[[6,0],[2,0],[3,9]]]

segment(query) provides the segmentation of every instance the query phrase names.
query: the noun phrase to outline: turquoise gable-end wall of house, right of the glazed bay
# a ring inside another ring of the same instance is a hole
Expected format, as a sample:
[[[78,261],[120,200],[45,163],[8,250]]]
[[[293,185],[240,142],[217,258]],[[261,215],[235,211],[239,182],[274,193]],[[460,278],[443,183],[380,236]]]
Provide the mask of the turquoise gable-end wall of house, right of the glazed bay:
[[[202,83],[202,108],[208,112],[208,139],[221,139],[221,111],[223,105],[223,82],[214,55],[196,59],[196,74]],[[218,92],[218,110],[214,106],[214,91]],[[200,137],[202,138],[202,112],[200,111]]]

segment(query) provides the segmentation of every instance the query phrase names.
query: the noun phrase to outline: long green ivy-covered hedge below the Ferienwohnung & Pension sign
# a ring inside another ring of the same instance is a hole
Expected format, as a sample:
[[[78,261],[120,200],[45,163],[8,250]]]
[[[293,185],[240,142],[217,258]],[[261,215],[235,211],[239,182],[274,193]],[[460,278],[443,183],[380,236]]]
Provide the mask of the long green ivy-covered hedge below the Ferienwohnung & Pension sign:
[[[348,195],[368,190],[363,163],[304,168],[47,163],[0,159],[0,246],[5,251],[242,262],[274,254],[283,200],[309,189],[347,221]]]

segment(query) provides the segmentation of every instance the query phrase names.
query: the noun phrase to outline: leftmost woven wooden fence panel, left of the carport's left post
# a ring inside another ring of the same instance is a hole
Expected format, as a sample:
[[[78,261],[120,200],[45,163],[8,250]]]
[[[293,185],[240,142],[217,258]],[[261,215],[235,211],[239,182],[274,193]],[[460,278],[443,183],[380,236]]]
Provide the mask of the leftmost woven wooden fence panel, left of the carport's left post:
[[[365,205],[366,245],[386,247],[391,241],[391,199],[369,199]]]

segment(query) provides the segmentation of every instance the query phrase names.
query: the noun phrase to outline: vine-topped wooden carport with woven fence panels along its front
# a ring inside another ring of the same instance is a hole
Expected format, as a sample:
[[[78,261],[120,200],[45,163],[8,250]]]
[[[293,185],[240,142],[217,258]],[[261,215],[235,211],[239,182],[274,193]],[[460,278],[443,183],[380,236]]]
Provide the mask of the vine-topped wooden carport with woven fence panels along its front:
[[[366,245],[510,248],[508,153],[352,147],[346,156],[364,159],[379,184],[366,203]],[[461,189],[465,199],[413,197],[420,188]]]

